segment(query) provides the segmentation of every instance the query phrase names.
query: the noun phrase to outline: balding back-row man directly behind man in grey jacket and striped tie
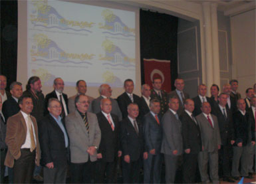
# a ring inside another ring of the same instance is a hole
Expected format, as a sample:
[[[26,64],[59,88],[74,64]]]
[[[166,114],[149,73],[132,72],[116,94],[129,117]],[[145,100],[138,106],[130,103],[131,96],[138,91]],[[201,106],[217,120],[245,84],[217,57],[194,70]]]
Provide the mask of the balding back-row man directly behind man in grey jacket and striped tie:
[[[78,96],[79,94],[86,94],[86,91],[87,91],[86,82],[84,80],[78,80],[76,82],[76,90],[77,90],[77,94],[68,98],[68,111],[69,111],[69,113],[76,111],[76,107],[75,107],[75,104],[74,104],[74,98],[76,98],[76,96]],[[88,102],[90,104],[90,102],[92,102],[92,100],[94,100],[94,98],[92,98],[91,96],[88,96],[88,95],[86,95],[86,96],[88,97]]]

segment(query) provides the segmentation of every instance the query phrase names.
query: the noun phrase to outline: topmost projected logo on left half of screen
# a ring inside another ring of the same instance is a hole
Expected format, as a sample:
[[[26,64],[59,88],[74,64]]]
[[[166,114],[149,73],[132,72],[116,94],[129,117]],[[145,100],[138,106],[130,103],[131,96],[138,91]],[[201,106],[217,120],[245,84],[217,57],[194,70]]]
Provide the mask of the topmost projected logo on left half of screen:
[[[90,29],[95,23],[87,21],[73,21],[64,19],[54,7],[48,5],[48,1],[32,1],[33,10],[29,15],[34,27],[47,29],[57,28],[61,30],[86,31],[92,33]]]

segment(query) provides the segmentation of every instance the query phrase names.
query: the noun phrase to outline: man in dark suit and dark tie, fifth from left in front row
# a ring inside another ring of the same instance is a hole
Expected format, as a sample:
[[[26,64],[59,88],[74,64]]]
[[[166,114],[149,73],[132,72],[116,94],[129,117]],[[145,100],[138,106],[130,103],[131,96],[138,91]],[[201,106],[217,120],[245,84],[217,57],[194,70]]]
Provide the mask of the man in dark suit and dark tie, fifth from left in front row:
[[[143,128],[137,119],[139,114],[138,105],[129,104],[128,116],[120,122],[120,141],[122,147],[122,176],[123,183],[139,183],[140,159],[148,158],[144,149]]]

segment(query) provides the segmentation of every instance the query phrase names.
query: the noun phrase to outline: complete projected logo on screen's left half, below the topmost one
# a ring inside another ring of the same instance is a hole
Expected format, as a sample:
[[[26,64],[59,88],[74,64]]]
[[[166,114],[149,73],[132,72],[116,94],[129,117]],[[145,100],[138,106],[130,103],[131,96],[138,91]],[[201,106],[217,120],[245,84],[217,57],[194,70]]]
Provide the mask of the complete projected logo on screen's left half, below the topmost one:
[[[68,53],[61,49],[55,41],[52,41],[43,34],[35,34],[31,45],[31,60],[33,62],[59,62],[59,63],[73,63],[73,64],[91,64],[86,60],[92,60],[94,54],[75,54]]]

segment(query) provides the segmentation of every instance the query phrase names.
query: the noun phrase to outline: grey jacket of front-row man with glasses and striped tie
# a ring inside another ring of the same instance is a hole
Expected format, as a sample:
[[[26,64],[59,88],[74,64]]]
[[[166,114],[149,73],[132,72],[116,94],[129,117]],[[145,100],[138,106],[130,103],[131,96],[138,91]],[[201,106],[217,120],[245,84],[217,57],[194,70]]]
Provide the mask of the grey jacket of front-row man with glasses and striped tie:
[[[68,114],[65,118],[66,130],[70,141],[70,161],[72,163],[84,163],[88,161],[96,161],[97,155],[89,155],[87,149],[90,146],[98,147],[100,145],[100,127],[95,114],[87,112],[87,120],[89,123],[89,134],[84,125],[82,117],[76,110]]]

